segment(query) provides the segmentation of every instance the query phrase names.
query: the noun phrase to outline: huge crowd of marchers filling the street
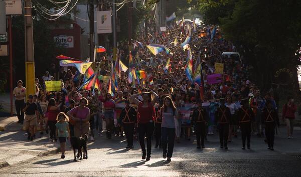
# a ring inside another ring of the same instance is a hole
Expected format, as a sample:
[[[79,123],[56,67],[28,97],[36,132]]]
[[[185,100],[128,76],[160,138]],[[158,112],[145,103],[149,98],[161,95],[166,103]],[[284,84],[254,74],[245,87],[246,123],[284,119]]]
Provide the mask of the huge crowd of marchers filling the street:
[[[175,141],[190,141],[195,134],[197,148],[204,148],[205,139],[218,131],[221,148],[228,149],[232,137],[241,132],[242,149],[246,148],[246,141],[247,148],[251,148],[253,134],[265,137],[268,148],[273,150],[275,128],[279,125],[275,93],[261,92],[251,81],[249,66],[243,60],[222,55],[235,52],[235,46],[224,40],[218,29],[210,39],[208,27],[198,26],[183,49],[180,43],[187,37],[188,26],[137,37],[142,46],[134,45],[130,54],[135,69],[146,72],[146,78],[138,83],[129,82],[128,71],[121,71],[113,94],[108,92],[108,82],[101,80],[99,88],[79,90],[81,82],[74,77],[72,68],[60,67],[56,71],[55,65],[45,72],[41,82],[36,78],[36,94],[29,95],[26,103],[26,88],[18,81],[13,92],[16,111],[28,132],[28,140],[33,141],[39,131],[41,135],[45,131],[51,142],[59,139],[64,158],[67,137],[87,134],[93,141],[104,132],[108,139],[112,135],[123,137],[125,133],[126,148],[133,148],[134,139],[139,140],[142,159],[150,159],[155,139],[155,148],[162,148],[163,157],[171,160]],[[145,47],[149,44],[164,45],[171,53],[153,55]],[[128,54],[119,47],[121,61],[128,60]],[[201,59],[202,85],[189,79],[185,72],[191,55],[193,64],[198,57]],[[166,71],[168,60],[170,66]],[[99,61],[100,75],[110,76],[110,61],[111,57]],[[207,77],[215,73],[215,63],[224,64],[221,82],[209,84]],[[62,81],[61,90],[47,91],[45,81],[53,80]],[[295,111],[296,105],[289,98],[282,116],[287,122],[288,138],[292,138]]]

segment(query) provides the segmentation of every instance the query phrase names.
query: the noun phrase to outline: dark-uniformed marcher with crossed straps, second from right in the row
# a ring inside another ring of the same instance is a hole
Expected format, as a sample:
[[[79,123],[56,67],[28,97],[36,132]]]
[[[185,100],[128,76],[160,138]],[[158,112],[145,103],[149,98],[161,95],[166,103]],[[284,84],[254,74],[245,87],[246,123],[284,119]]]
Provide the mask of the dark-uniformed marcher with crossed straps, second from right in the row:
[[[246,139],[247,139],[247,148],[250,149],[250,138],[251,138],[251,130],[252,130],[252,122],[254,119],[254,112],[249,107],[248,99],[241,100],[241,107],[238,109],[238,120],[241,130],[241,139],[242,139],[242,148],[246,149]]]

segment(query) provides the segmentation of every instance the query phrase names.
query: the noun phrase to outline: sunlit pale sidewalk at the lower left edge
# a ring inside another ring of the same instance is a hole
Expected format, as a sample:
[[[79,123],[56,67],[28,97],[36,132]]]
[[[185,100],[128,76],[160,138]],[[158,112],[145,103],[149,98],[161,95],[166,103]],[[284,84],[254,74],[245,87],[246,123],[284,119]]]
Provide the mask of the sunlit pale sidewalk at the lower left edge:
[[[50,143],[47,135],[38,133],[34,141],[28,141],[17,121],[17,117],[0,117],[0,169],[58,152],[59,143]]]

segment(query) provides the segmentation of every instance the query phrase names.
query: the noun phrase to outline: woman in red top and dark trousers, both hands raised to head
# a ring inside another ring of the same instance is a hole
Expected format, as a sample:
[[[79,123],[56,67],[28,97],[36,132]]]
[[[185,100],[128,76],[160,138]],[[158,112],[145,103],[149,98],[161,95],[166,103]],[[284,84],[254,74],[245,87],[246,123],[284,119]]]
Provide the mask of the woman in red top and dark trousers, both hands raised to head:
[[[143,101],[139,101],[136,97],[142,96]],[[154,95],[152,100],[151,96]],[[152,150],[152,136],[155,129],[154,121],[156,120],[156,113],[154,105],[157,102],[158,95],[155,92],[142,92],[130,96],[130,99],[138,105],[137,109],[137,126],[139,134],[139,142],[142,150],[142,159],[145,159],[146,150],[144,144],[144,137],[146,134],[147,141],[147,157],[146,160],[150,159],[150,152]]]

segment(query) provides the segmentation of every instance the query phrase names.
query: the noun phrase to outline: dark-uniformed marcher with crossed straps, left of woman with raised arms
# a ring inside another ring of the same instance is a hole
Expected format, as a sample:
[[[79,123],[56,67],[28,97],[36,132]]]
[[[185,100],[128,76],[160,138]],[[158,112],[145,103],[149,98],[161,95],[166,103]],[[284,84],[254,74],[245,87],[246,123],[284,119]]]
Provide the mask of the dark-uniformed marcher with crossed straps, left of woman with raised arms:
[[[125,148],[133,148],[133,133],[137,122],[137,113],[135,108],[129,105],[129,100],[125,100],[125,108],[121,110],[119,122],[124,128],[127,146]]]

